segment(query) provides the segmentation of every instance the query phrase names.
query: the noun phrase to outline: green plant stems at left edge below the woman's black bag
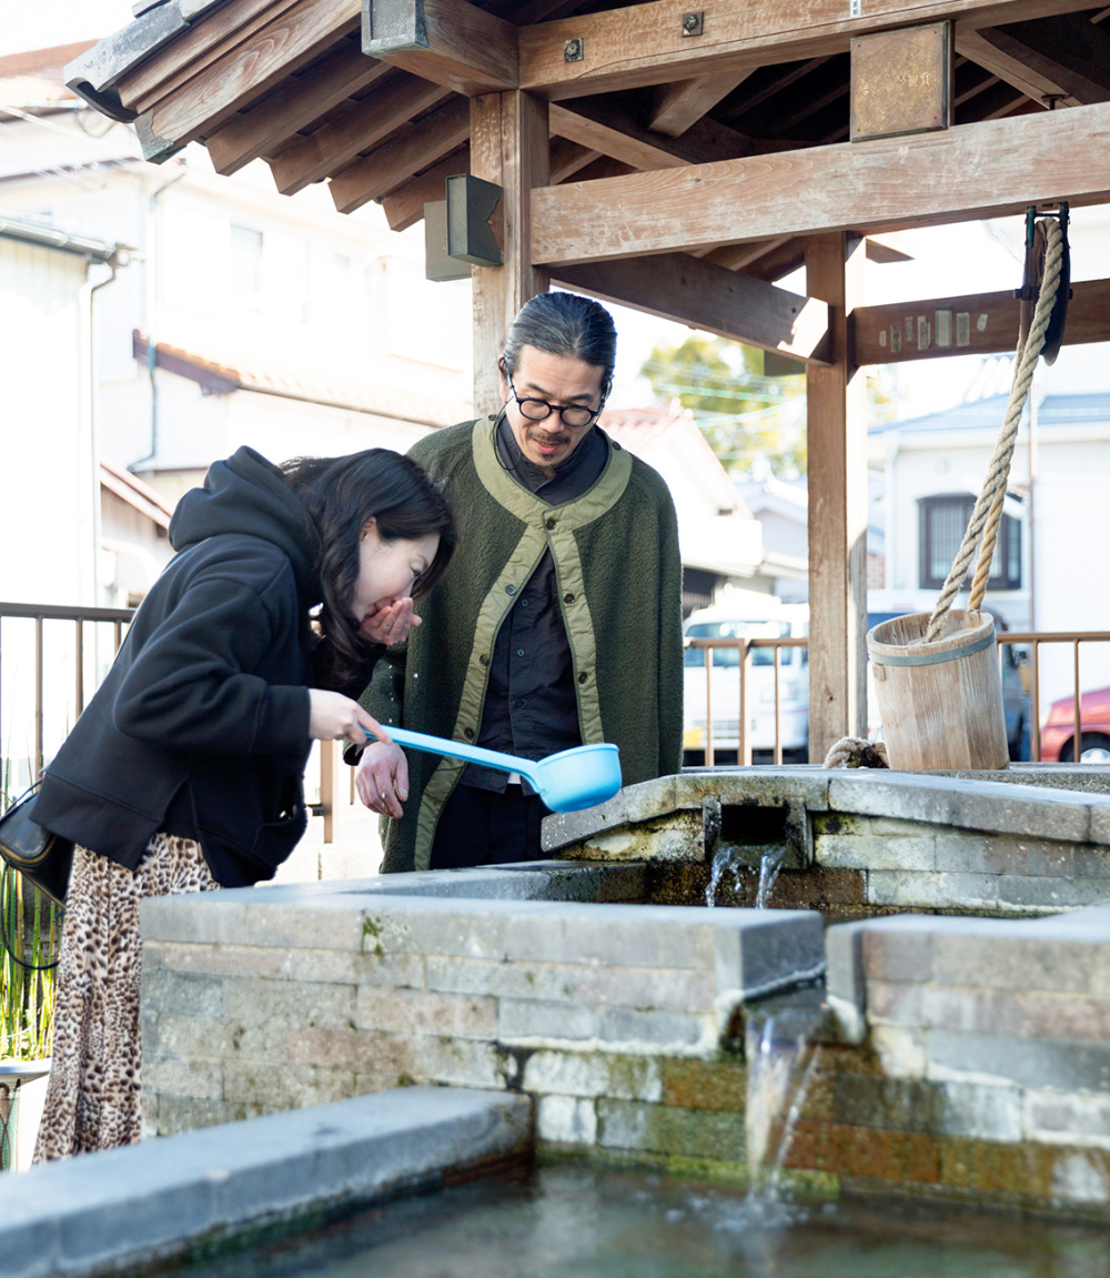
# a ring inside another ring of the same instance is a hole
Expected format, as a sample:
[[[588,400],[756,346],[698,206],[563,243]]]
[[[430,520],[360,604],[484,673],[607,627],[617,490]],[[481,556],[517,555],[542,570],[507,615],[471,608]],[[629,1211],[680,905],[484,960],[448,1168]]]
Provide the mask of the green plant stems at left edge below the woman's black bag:
[[[0,810],[13,801],[5,762]],[[0,875],[0,1059],[50,1056],[61,910],[22,874]]]

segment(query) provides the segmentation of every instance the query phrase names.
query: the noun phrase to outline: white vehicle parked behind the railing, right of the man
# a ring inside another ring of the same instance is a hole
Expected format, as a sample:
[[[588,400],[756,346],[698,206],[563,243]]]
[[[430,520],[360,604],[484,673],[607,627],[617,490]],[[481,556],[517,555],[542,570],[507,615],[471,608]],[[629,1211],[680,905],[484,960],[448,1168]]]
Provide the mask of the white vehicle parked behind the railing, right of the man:
[[[743,763],[738,758],[740,734],[740,645],[715,647],[710,652],[691,645],[691,639],[798,639],[809,635],[809,607],[783,603],[775,596],[734,589],[709,608],[691,612],[686,636],[683,671],[683,759],[688,766],[706,760],[706,674],[711,707],[714,763]],[[778,651],[778,672],[775,671]],[[775,716],[778,674],[778,716]],[[809,648],[780,645],[749,647],[745,662],[745,750],[759,762],[770,762],[778,744],[783,759],[805,763],[810,741]]]

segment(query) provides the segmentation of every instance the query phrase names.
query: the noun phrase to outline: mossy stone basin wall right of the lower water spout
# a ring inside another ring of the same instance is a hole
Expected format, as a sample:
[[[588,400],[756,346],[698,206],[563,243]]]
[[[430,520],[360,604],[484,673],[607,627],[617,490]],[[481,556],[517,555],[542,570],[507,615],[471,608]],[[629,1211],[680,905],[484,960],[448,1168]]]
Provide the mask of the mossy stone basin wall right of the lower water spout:
[[[1110,907],[830,928],[823,1048],[789,1163],[869,1189],[1110,1210]]]

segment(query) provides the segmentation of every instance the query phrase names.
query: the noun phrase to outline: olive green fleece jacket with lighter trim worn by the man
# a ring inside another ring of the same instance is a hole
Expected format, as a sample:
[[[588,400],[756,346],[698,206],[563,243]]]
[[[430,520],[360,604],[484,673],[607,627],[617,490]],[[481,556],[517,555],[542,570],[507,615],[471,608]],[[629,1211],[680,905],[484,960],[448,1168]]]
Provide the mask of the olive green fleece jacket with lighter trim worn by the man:
[[[549,506],[496,452],[496,419],[420,440],[409,455],[442,486],[460,543],[420,604],[423,624],[382,658],[361,703],[382,723],[476,741],[502,621],[544,551],[556,561],[582,741],[613,741],[625,785],[682,766],[682,564],[662,477],[609,441],[600,478]],[[407,751],[409,799],[382,819],[382,870],[427,869],[465,767]]]

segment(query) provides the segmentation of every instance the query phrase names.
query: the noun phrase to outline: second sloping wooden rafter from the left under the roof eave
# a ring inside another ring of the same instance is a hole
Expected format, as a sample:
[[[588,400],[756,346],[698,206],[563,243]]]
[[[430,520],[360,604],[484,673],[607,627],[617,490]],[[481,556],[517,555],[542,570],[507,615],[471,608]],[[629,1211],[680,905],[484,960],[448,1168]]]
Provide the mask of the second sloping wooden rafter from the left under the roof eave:
[[[386,63],[367,58],[358,43],[345,43],[211,134],[204,146],[216,173],[236,173],[267,155],[388,70]]]

